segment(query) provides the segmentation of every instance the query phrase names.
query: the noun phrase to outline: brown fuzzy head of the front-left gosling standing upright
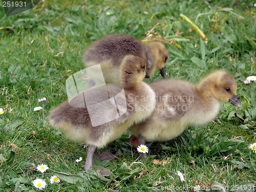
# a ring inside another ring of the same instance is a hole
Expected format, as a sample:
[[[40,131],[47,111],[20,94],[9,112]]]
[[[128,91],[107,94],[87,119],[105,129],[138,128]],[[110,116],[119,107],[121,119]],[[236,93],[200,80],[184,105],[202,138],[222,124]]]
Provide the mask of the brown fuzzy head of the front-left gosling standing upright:
[[[145,70],[146,61],[139,56],[126,55],[120,66],[120,79],[126,89],[136,87],[144,78],[150,78]]]

